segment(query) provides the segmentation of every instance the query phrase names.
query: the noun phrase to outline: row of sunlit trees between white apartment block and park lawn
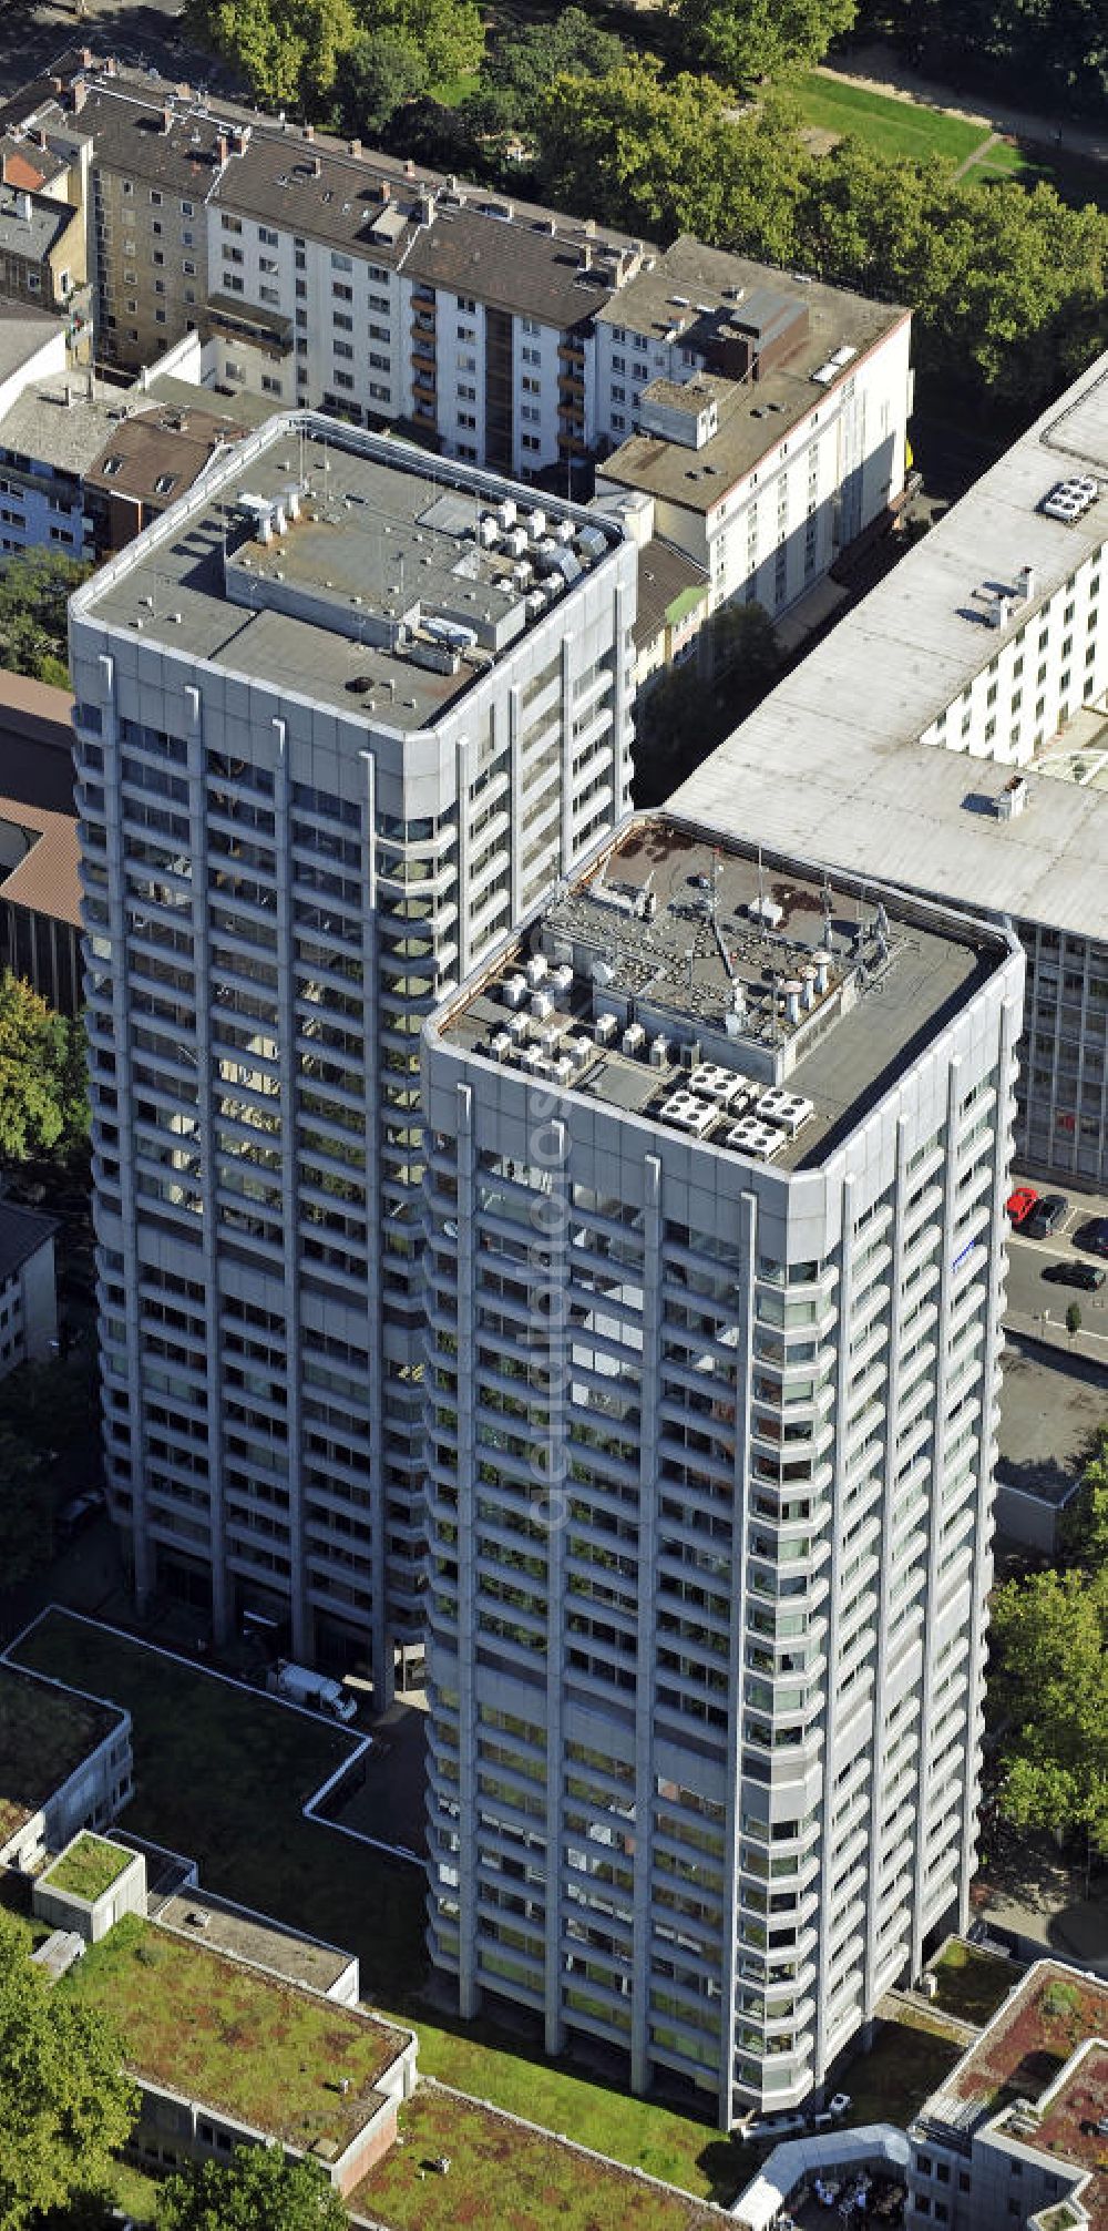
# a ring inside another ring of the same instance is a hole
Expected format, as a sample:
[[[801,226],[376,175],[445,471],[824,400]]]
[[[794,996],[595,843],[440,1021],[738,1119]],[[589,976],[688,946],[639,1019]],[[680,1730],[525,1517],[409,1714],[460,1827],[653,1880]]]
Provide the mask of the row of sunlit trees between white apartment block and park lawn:
[[[1108,214],[1052,185],[988,187],[941,156],[890,158],[845,138],[811,154],[787,94],[736,116],[713,78],[629,58],[562,76],[540,103],[540,183],[577,212],[903,301],[921,375],[1026,422],[1108,344]]]

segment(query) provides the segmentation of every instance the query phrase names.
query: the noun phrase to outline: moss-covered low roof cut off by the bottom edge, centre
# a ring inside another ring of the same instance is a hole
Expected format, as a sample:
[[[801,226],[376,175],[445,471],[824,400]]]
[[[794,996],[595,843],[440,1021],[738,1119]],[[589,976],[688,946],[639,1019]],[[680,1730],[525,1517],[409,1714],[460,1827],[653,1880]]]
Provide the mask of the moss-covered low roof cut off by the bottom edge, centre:
[[[401,2108],[397,2146],[350,2195],[350,2206],[397,2231],[707,2231],[711,2218],[691,2200],[586,2162],[553,2140],[533,2137],[497,2115],[424,2086]],[[448,2173],[430,2164],[448,2157]]]

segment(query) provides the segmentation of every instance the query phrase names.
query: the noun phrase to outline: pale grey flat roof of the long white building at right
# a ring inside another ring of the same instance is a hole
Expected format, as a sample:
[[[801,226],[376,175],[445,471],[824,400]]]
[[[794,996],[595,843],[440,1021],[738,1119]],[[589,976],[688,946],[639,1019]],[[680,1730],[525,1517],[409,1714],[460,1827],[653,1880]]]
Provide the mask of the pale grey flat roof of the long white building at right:
[[[1077,473],[1101,482],[1099,500],[1075,524],[1048,518],[1041,500]],[[881,863],[903,888],[1108,935],[1108,792],[1032,765],[1026,812],[1001,821],[1008,765],[919,743],[1104,542],[1108,355],[778,683],[673,810],[836,868]],[[1023,564],[1032,598],[985,627],[974,589],[1010,587]]]

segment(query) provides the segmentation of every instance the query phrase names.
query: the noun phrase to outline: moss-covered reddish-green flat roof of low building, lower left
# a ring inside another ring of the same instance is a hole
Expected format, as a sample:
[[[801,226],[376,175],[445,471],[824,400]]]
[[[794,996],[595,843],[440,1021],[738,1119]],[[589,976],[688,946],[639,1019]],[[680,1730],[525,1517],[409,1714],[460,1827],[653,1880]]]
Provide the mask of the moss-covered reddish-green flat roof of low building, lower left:
[[[89,1945],[65,1990],[111,2012],[134,2075],[321,2160],[361,2131],[408,2044],[404,2030],[136,1916]]]

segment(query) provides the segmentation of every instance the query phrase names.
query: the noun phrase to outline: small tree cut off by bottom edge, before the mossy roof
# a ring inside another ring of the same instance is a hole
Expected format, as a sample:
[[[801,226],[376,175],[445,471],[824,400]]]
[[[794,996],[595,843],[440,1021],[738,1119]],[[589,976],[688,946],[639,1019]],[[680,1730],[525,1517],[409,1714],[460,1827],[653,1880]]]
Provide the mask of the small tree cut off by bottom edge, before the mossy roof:
[[[279,2146],[189,2164],[161,2186],[156,2220],[158,2231],[348,2231],[319,2164],[285,2162]]]

